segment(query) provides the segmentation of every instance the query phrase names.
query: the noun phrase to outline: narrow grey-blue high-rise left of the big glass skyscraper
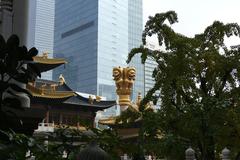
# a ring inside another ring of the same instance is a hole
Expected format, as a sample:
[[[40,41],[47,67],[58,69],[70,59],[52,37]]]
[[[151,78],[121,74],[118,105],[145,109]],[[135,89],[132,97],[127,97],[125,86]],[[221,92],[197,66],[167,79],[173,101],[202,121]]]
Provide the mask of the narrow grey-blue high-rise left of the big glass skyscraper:
[[[55,0],[29,0],[27,46],[36,47],[39,55],[44,52],[53,57]],[[42,73],[43,79],[52,79],[52,71]]]

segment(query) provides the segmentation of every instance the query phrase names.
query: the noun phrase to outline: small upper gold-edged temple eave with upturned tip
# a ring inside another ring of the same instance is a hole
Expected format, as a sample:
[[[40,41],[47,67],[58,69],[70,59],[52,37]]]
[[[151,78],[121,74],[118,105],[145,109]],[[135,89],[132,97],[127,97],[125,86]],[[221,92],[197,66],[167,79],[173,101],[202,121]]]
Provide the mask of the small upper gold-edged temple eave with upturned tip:
[[[40,72],[46,72],[67,63],[63,58],[48,58],[46,55],[35,56],[33,61]]]

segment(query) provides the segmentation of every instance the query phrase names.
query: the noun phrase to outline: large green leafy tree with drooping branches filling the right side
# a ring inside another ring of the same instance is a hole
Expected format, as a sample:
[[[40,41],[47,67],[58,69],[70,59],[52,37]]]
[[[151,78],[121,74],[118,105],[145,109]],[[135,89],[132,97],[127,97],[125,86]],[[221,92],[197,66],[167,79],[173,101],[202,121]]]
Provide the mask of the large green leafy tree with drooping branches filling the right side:
[[[158,123],[151,121],[146,126],[153,123],[155,131],[161,130],[159,144],[166,143],[161,145],[163,151],[177,138],[182,153],[191,145],[199,159],[215,159],[225,146],[236,154],[240,147],[237,118],[240,116],[240,50],[227,47],[225,39],[239,37],[240,27],[236,23],[215,21],[203,33],[187,37],[171,28],[176,22],[174,11],[149,17],[143,44],[147,36],[157,35],[162,49],[151,51],[140,46],[129,53],[127,62],[141,53],[143,63],[147,58],[157,63],[152,75],[156,83],[141,107],[157,99],[161,99],[162,104],[156,113]],[[158,96],[156,91],[160,92]],[[143,121],[149,116],[143,116]],[[152,126],[145,127],[143,132],[151,129]],[[172,140],[163,142],[166,137]],[[176,150],[172,148],[172,152]],[[161,154],[168,157],[170,153],[165,150]],[[176,155],[175,159],[182,159]]]

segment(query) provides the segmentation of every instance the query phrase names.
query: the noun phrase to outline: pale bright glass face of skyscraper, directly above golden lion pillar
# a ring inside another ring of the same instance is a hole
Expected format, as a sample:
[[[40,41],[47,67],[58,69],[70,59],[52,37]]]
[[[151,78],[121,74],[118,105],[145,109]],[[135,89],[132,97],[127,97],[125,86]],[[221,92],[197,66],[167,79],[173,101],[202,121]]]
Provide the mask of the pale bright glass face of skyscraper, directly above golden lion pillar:
[[[128,0],[99,0],[98,9],[98,94],[115,99],[112,69],[128,55]]]

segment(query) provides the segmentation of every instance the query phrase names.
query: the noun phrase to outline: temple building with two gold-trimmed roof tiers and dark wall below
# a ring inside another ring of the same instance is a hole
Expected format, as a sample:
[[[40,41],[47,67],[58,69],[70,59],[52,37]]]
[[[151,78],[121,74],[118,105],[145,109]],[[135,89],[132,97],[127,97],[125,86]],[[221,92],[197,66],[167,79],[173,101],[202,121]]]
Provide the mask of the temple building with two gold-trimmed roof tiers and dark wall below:
[[[47,54],[34,57],[37,67],[45,72],[67,62],[61,58],[48,58]],[[55,127],[67,125],[81,127],[79,121],[87,121],[94,126],[96,113],[116,105],[116,101],[102,100],[102,97],[89,95],[82,96],[79,92],[73,91],[66,83],[62,74],[59,81],[37,79],[27,85],[31,92],[32,108],[44,108],[46,110],[44,123],[54,123]]]

